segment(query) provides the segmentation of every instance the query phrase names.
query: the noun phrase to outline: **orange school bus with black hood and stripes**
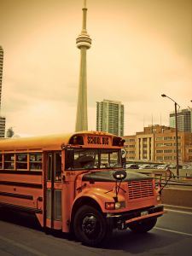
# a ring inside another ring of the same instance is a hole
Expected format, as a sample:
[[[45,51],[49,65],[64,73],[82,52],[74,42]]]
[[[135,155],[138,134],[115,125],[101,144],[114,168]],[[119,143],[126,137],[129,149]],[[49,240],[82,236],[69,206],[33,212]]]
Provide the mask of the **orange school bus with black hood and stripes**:
[[[0,142],[0,206],[96,246],[113,229],[147,232],[163,213],[153,177],[123,169],[124,140],[77,132]]]

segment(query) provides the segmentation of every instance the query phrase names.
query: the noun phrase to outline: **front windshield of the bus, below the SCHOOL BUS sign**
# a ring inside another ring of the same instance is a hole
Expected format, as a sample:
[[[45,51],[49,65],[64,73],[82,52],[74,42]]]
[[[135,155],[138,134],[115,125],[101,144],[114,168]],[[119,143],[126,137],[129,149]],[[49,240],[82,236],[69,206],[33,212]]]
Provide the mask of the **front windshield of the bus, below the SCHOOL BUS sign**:
[[[67,148],[66,170],[86,170],[122,167],[120,149]]]

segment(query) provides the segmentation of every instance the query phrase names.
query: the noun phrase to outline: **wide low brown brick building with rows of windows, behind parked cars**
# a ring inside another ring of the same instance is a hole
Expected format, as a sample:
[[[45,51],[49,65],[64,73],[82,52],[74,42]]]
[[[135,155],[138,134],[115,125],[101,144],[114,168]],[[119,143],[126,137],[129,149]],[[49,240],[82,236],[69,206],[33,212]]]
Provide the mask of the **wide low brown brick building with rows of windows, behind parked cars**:
[[[125,136],[127,160],[176,163],[175,129],[165,125],[144,127],[136,135]],[[178,131],[179,163],[192,162],[192,133]]]

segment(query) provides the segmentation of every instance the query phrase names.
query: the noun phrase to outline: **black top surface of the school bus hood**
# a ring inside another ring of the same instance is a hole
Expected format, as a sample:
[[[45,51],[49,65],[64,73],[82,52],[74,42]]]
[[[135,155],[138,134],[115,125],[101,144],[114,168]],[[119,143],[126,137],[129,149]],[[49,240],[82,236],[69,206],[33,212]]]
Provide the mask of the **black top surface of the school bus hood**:
[[[89,181],[89,182],[115,182],[115,179],[113,177],[113,172],[116,170],[111,171],[104,171],[104,172],[90,172],[86,173],[83,176],[83,181]],[[146,180],[146,179],[153,179],[153,177],[148,177],[145,174],[137,173],[137,172],[127,172],[127,176],[123,180],[123,182],[129,182],[129,181],[138,181],[138,180]]]

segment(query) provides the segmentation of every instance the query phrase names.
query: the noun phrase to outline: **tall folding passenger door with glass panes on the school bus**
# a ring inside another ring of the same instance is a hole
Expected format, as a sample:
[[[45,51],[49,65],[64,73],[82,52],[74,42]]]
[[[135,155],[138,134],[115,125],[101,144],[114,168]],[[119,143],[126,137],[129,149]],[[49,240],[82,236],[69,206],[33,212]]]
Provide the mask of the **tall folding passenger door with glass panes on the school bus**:
[[[61,151],[45,155],[46,164],[46,227],[61,229]]]

